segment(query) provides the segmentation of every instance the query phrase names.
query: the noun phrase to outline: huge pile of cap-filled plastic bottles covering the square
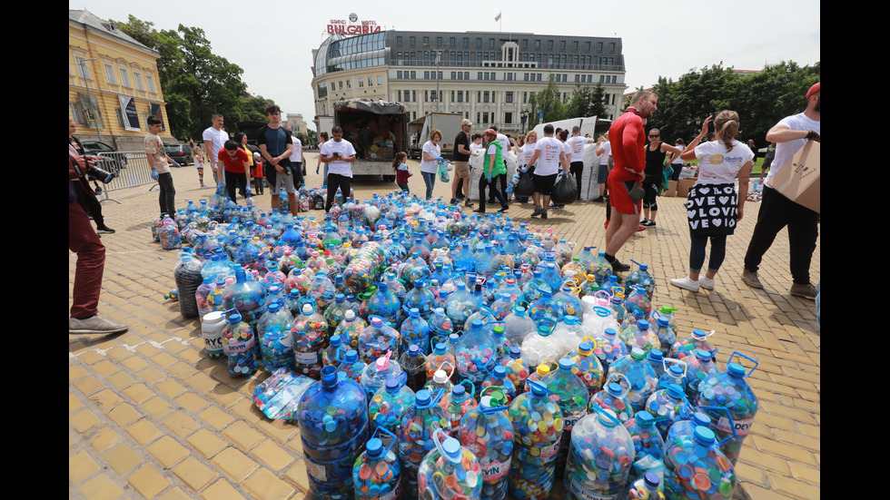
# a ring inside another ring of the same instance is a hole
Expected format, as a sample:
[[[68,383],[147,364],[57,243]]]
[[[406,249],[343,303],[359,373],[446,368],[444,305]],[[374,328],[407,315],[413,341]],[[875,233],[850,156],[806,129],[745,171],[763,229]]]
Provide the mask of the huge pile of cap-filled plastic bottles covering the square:
[[[296,380],[257,400],[301,427],[308,498],[732,494],[750,371],[654,307],[645,264],[622,285],[553,230],[395,191],[318,217],[218,193],[174,230],[208,357]]]

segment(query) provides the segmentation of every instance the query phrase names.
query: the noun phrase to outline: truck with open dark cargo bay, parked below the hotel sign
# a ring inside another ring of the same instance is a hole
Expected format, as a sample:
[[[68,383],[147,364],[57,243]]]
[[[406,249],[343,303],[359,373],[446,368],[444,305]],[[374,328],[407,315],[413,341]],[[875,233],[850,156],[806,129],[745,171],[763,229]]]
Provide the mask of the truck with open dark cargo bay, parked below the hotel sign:
[[[381,176],[395,181],[392,160],[409,145],[408,113],[401,103],[349,99],[333,103],[333,124],[343,129],[343,139],[355,148],[353,175]]]

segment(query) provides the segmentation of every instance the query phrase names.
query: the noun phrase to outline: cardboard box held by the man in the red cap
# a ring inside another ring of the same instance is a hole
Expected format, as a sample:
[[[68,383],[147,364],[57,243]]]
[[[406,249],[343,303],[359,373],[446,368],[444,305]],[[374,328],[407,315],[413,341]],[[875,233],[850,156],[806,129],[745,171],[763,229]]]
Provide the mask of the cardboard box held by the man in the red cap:
[[[769,185],[788,200],[821,213],[821,143],[807,141],[791,161],[779,169]]]

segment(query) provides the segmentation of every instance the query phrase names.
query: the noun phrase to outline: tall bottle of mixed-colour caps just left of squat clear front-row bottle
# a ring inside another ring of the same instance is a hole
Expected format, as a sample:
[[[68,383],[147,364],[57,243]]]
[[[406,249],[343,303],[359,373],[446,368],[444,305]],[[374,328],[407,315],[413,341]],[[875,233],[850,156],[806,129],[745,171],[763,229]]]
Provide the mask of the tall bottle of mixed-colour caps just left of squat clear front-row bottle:
[[[544,500],[556,476],[562,411],[549,399],[546,385],[529,381],[529,392],[513,399],[508,416],[513,426],[509,495]]]

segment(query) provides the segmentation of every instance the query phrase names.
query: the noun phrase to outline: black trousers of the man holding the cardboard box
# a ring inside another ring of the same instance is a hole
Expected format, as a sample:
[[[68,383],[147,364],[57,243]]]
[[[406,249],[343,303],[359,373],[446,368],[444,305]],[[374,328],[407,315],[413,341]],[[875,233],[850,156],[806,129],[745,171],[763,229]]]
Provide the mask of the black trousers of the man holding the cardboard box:
[[[776,240],[776,235],[788,227],[788,245],[791,247],[791,277],[794,282],[806,285],[810,282],[810,261],[819,237],[819,214],[803,205],[788,200],[780,192],[764,185],[757,213],[757,224],[745,253],[745,269],[756,271],[766,250]]]

